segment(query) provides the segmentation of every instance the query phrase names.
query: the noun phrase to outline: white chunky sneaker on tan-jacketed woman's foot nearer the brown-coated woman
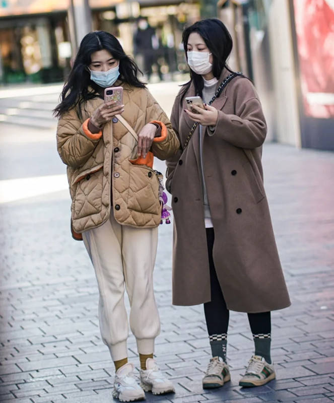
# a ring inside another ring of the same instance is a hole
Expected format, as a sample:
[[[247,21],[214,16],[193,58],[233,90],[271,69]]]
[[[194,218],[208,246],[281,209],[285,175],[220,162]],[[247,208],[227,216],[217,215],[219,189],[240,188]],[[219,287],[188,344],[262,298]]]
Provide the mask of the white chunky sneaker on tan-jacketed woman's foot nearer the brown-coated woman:
[[[146,392],[151,391],[153,394],[175,392],[172,382],[162,374],[153,358],[146,360],[146,368],[140,371],[141,385]]]

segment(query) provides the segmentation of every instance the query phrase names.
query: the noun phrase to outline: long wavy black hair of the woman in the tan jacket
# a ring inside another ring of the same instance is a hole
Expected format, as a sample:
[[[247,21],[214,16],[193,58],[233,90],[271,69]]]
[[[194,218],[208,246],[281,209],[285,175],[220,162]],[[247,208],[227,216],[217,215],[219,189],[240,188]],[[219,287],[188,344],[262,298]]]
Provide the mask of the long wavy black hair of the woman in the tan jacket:
[[[92,53],[103,49],[119,60],[119,79],[123,83],[145,88],[145,84],[137,77],[138,73],[142,72],[135,61],[124,53],[117,38],[105,31],[90,32],[81,41],[69,79],[61,92],[61,102],[53,110],[55,116],[59,117],[76,106],[78,106],[78,115],[81,116],[82,105],[89,99],[99,96],[99,86],[90,79],[88,66],[91,64]],[[89,86],[93,88],[93,91],[88,89]]]

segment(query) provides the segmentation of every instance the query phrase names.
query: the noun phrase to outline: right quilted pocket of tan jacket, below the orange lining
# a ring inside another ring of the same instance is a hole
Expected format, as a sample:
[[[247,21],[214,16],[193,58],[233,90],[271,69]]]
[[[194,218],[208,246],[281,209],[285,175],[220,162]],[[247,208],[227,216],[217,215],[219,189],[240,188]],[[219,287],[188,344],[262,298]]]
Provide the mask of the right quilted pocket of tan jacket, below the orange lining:
[[[127,208],[139,213],[160,214],[159,179],[146,165],[129,165]]]

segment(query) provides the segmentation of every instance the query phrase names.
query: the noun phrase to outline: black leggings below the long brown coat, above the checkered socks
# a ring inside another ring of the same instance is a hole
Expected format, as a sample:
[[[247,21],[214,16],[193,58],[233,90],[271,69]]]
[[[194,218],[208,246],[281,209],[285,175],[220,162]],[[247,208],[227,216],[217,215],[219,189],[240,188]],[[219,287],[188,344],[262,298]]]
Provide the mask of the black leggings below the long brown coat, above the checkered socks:
[[[204,304],[204,312],[209,335],[227,333],[230,318],[230,311],[226,307],[226,302],[217,278],[214,259],[212,256],[214,240],[214,229],[207,228],[211,301]],[[250,329],[253,334],[266,334],[271,332],[272,324],[270,312],[248,313],[247,315]]]

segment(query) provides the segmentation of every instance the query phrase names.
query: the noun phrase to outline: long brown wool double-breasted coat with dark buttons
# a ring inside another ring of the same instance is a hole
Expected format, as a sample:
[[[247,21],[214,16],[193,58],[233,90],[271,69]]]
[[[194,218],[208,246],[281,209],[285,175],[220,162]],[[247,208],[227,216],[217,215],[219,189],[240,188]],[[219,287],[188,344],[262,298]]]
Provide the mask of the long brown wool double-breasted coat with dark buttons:
[[[228,74],[223,72],[219,84]],[[193,95],[191,85],[186,96]],[[237,77],[213,106],[219,117],[214,135],[204,136],[204,173],[215,231],[213,257],[227,307],[250,313],[285,308],[290,299],[263,188],[266,124],[258,96],[249,80]],[[182,145],[193,124],[185,107],[179,94],[171,122]],[[166,186],[174,213],[175,305],[211,300],[199,164],[197,127],[183,153],[167,161]]]

